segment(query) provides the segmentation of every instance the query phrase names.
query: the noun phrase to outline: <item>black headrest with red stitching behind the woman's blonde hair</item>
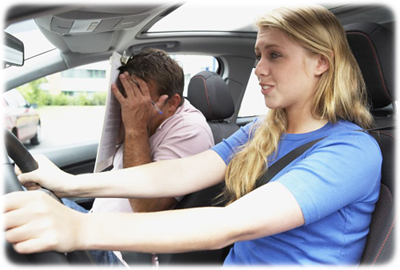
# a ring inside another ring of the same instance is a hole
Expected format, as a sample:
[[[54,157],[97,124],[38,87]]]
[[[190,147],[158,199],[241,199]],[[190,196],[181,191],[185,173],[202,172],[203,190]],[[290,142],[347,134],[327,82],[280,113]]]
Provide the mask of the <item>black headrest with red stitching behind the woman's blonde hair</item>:
[[[357,59],[372,109],[394,102],[394,33],[376,23],[354,23],[344,26],[350,48]]]

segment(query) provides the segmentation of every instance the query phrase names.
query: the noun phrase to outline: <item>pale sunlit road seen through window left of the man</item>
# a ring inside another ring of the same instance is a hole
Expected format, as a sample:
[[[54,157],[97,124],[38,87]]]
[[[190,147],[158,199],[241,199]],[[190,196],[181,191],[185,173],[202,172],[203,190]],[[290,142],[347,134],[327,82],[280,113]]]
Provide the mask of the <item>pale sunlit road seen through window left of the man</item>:
[[[36,110],[42,122],[42,142],[28,149],[41,149],[99,140],[104,106],[47,106]]]

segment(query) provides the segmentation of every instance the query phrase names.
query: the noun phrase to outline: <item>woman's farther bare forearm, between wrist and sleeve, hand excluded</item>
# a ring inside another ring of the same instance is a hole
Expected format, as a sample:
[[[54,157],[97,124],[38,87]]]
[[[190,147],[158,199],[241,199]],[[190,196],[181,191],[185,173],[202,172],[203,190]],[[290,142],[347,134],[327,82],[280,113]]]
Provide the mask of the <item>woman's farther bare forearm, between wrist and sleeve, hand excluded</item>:
[[[177,197],[221,182],[225,168],[223,160],[209,150],[184,159],[78,175],[73,178],[65,193],[71,197]]]

